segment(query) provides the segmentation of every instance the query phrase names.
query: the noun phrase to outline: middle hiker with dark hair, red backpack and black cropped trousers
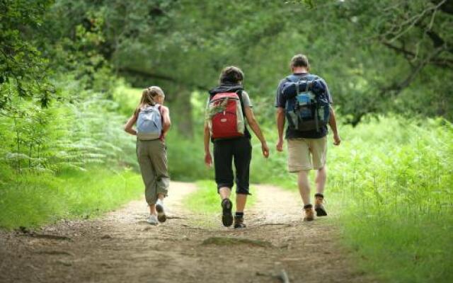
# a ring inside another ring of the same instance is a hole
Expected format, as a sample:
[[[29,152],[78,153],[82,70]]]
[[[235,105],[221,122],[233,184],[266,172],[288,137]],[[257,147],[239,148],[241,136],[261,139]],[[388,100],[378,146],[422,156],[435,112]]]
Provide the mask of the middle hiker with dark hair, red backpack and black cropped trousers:
[[[205,163],[212,166],[210,141],[214,144],[214,172],[217,192],[222,199],[222,224],[245,228],[243,209],[246,206],[251,163],[251,134],[248,124],[261,142],[263,156],[268,158],[269,148],[253,115],[252,103],[242,86],[243,72],[237,67],[226,67],[207,101],[205,122]],[[229,200],[234,185],[232,162],[236,168],[236,213],[231,212]]]

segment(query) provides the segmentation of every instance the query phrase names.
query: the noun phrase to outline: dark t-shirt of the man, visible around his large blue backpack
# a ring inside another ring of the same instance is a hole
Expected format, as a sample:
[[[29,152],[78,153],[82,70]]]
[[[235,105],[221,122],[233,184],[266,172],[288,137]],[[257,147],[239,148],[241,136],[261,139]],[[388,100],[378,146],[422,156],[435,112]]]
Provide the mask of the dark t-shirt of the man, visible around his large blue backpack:
[[[314,76],[315,79],[321,79],[324,83],[326,83],[326,81],[324,81],[319,76],[315,76],[314,74],[302,73],[302,74],[293,74],[293,75],[299,76],[301,79],[304,76]],[[278,84],[277,95],[275,96],[275,107],[277,107],[277,108],[278,107],[285,108],[285,106],[286,106],[286,99],[285,99],[285,96],[283,96],[283,94],[282,94],[282,86],[285,82],[287,82],[287,79],[282,79],[282,81],[280,81],[280,83]],[[326,83],[326,86],[327,86],[327,83]],[[329,103],[333,103],[332,96],[331,96],[331,93],[328,91],[328,88],[324,95],[326,96],[326,100],[328,100]],[[321,127],[319,129],[319,132],[317,132],[316,129],[312,129],[310,131],[298,131],[297,129],[291,129],[291,128],[287,127],[285,138],[286,139],[299,139],[299,138],[320,139],[321,137],[326,137],[327,132],[328,132],[327,126]]]

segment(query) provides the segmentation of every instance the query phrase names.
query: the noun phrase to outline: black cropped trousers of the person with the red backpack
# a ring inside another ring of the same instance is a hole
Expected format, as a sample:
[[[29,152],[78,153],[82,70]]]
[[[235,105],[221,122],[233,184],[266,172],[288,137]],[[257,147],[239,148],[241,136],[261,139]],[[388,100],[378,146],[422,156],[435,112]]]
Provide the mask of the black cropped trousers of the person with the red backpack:
[[[221,187],[233,187],[232,162],[236,169],[236,194],[250,195],[250,161],[252,146],[248,137],[214,141],[214,171],[217,192]]]

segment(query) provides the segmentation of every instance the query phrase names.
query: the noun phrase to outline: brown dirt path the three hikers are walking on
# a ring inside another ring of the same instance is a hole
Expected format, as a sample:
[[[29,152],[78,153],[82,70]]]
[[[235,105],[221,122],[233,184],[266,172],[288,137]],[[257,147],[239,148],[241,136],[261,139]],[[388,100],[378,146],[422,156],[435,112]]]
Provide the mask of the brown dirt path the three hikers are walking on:
[[[196,188],[173,182],[159,226],[140,200],[101,219],[0,232],[0,282],[284,282],[282,271],[289,282],[373,282],[350,267],[326,219],[302,222],[297,195],[256,187],[241,231],[187,212],[180,201]]]

